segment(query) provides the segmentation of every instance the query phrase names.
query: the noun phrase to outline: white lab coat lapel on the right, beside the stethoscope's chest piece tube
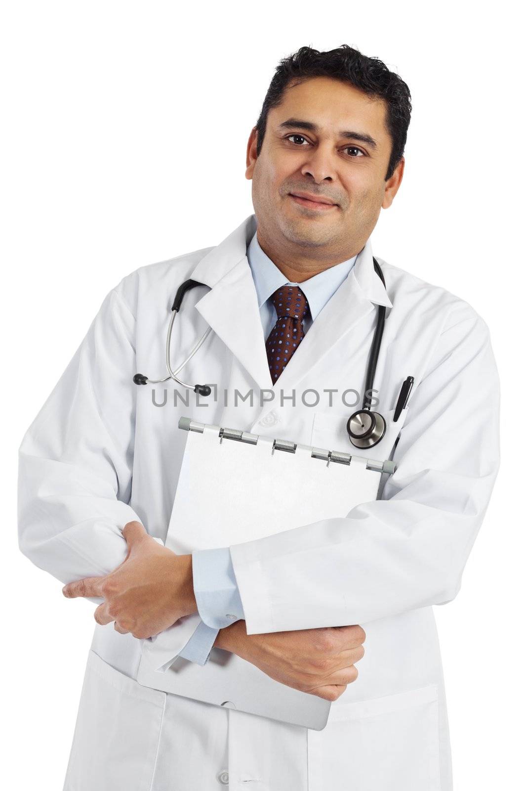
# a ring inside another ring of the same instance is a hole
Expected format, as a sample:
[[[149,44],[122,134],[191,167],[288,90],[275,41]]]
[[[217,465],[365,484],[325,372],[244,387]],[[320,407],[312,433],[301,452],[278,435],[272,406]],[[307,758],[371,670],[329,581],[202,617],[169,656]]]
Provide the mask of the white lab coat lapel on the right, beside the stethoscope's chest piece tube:
[[[277,387],[284,392],[291,391],[299,380],[322,362],[336,343],[344,340],[350,343],[349,333],[353,327],[370,316],[376,305],[392,307],[386,289],[375,272],[371,241],[368,239],[357,255],[352,271],[326,302],[280,374]]]

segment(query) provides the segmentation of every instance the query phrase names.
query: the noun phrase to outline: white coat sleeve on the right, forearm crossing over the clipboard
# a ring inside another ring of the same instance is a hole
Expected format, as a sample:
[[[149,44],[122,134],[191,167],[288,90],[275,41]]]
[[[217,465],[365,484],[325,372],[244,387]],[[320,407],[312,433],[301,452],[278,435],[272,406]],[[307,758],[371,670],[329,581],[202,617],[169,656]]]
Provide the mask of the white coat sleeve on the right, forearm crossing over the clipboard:
[[[443,323],[393,460],[381,499],[230,547],[247,634],[368,623],[457,595],[499,468],[495,360],[465,302]]]

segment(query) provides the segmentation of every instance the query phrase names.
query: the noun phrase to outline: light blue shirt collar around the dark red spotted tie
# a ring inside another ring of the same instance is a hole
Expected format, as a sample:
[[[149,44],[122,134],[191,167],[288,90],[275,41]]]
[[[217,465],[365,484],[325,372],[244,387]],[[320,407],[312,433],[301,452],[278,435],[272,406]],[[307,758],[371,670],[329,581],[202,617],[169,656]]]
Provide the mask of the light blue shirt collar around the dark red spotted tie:
[[[352,271],[356,257],[354,255],[352,258],[337,263],[323,272],[318,272],[318,274],[314,274],[312,278],[307,278],[302,283],[291,283],[280,272],[276,263],[273,263],[269,256],[265,255],[258,243],[256,233],[254,233],[254,237],[250,240],[247,248],[247,260],[254,279],[258,307],[261,308],[271,294],[279,289],[280,286],[289,283],[302,289],[310,307],[311,318],[315,320],[318,313],[326,305],[326,302],[329,301],[330,297],[333,297],[338,287],[342,285]]]

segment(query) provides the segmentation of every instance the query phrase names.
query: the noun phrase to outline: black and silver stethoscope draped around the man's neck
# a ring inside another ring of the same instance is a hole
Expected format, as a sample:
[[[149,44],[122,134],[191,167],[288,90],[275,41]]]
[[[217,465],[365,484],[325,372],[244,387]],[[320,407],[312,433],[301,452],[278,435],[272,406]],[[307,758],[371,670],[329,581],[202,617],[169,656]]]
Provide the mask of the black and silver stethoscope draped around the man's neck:
[[[381,278],[382,285],[386,288],[386,282],[382,276],[381,267],[379,267],[375,258],[373,259],[373,263],[375,271],[377,272],[379,278]],[[168,325],[167,333],[165,363],[167,365],[168,377],[164,377],[164,379],[149,379],[148,377],[145,377],[143,373],[136,373],[134,376],[134,384],[160,384],[161,382],[166,382],[169,379],[173,379],[178,384],[181,384],[183,388],[194,390],[194,392],[199,393],[199,395],[210,395],[211,389],[209,388],[208,384],[188,384],[179,379],[177,374],[182,368],[184,368],[187,362],[189,362],[194,357],[194,354],[196,354],[201,344],[204,343],[205,339],[209,335],[209,332],[212,330],[212,327],[208,327],[205,330],[203,335],[201,335],[201,338],[198,340],[198,343],[196,343],[192,350],[190,350],[190,354],[185,360],[183,360],[181,365],[173,370],[170,364],[170,346],[175,315],[179,312],[179,308],[181,308],[183,297],[185,296],[186,292],[194,289],[195,286],[203,285],[204,284],[200,283],[198,280],[186,280],[181,284],[181,286],[179,286],[179,289],[175,295],[175,299],[171,307],[172,315],[170,324]],[[373,448],[374,445],[377,445],[378,442],[382,440],[382,437],[384,437],[386,433],[386,420],[382,417],[382,414],[380,414],[380,412],[371,411],[373,383],[375,379],[375,371],[377,369],[378,352],[381,347],[382,333],[384,332],[385,316],[386,307],[384,305],[378,305],[377,326],[375,327],[375,335],[371,343],[370,357],[368,359],[363,406],[361,409],[354,412],[346,423],[349,441],[356,448]]]

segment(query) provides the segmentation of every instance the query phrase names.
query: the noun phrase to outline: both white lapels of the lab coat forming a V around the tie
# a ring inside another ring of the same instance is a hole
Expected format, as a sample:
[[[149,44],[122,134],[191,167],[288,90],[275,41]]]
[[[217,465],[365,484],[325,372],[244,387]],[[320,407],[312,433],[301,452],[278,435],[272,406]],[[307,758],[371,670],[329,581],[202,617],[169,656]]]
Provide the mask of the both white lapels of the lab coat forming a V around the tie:
[[[265,353],[258,296],[247,260],[247,247],[256,228],[256,216],[250,214],[198,262],[190,278],[211,289],[196,303],[198,312],[232,350],[258,387],[270,389],[273,381]],[[295,387],[335,343],[375,309],[375,305],[390,308],[392,303],[375,273],[371,240],[368,239],[348,277],[322,308],[280,375],[277,387],[284,392]]]

